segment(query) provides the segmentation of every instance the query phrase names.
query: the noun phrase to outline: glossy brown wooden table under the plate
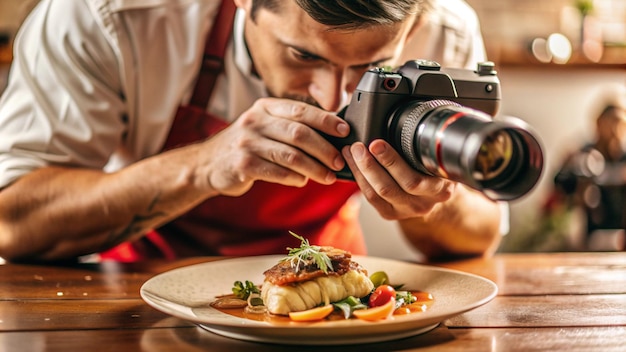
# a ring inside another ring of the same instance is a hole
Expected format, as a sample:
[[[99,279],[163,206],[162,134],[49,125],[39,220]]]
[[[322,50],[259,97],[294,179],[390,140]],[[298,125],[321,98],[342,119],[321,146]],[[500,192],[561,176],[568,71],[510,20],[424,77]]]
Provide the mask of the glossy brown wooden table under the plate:
[[[0,265],[0,351],[626,350],[626,253],[500,254],[438,264],[493,280],[498,296],[420,336],[337,347],[220,337],[139,296],[157,273],[217,259]]]

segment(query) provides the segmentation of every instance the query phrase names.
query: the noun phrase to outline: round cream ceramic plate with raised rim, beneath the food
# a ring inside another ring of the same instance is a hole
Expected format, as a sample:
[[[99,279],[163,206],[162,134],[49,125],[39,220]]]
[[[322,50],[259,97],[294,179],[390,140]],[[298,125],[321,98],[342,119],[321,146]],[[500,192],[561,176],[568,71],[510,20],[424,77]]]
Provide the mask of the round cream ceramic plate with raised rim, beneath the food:
[[[431,293],[434,304],[423,313],[367,322],[357,319],[314,323],[273,324],[239,318],[209,304],[231,293],[235,281],[263,282],[263,271],[284,256],[256,256],[190,265],[159,274],[141,287],[141,297],[152,307],[197,323],[213,333],[241,340],[299,345],[371,343],[418,335],[440,322],[474,309],[495,297],[497,286],[482,277],[391,259],[354,256],[371,274],[385,271],[394,284]]]

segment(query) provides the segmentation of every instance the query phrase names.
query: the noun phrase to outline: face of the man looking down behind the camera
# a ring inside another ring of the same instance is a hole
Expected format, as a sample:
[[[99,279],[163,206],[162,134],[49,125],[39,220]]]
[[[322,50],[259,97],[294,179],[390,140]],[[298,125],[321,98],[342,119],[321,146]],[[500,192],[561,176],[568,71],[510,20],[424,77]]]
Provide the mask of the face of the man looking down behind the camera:
[[[245,3],[245,1],[241,1]],[[365,71],[396,66],[414,18],[401,24],[357,30],[324,26],[294,1],[280,2],[276,13],[246,8],[245,37],[256,72],[274,97],[337,111],[348,102]]]

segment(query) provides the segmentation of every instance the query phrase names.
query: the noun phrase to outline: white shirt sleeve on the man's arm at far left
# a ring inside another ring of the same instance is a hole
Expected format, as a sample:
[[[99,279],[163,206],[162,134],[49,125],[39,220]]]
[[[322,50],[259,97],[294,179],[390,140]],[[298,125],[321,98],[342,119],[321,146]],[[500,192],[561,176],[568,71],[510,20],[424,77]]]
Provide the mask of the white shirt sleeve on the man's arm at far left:
[[[114,50],[86,2],[42,1],[0,98],[0,188],[50,164],[102,168],[125,132]]]

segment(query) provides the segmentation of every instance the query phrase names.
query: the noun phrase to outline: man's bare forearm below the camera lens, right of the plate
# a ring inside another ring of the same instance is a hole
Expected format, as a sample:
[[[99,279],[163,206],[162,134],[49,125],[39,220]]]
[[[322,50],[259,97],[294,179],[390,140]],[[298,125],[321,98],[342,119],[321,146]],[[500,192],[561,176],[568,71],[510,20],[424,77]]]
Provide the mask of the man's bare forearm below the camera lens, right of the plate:
[[[491,254],[501,238],[498,203],[460,184],[427,216],[399,223],[409,242],[430,259]]]

